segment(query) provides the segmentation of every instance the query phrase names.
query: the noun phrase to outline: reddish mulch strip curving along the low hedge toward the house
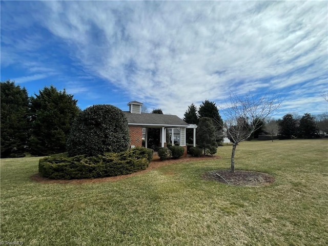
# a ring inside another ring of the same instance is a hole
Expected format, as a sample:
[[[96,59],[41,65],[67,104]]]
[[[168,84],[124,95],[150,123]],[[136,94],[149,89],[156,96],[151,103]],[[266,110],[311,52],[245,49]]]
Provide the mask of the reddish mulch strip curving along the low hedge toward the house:
[[[168,166],[176,163],[181,162],[191,162],[191,161],[199,161],[199,160],[215,160],[220,159],[220,156],[203,156],[203,157],[193,157],[190,155],[183,156],[179,159],[170,159],[170,160],[160,160],[158,155],[154,155],[152,161],[149,164],[149,167],[146,170],[142,170],[136,173],[131,173],[128,175],[120,175],[115,177],[104,177],[104,178],[86,178],[86,179],[70,179],[70,180],[64,180],[64,179],[49,179],[40,177],[40,175],[34,174],[31,176],[31,179],[40,183],[69,183],[69,184],[80,184],[80,183],[98,183],[98,182],[109,182],[109,181],[117,181],[120,179],[136,176],[142,173],[147,173],[153,169],[160,168],[163,166]]]

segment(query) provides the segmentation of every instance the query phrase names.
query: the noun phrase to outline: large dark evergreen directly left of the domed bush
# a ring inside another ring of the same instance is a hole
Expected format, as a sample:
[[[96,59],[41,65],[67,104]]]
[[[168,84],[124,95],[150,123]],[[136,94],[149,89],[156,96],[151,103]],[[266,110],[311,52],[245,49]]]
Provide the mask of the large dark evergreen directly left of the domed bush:
[[[66,140],[79,113],[77,100],[66,91],[45,87],[31,97],[32,134],[30,152],[49,155],[66,151]]]

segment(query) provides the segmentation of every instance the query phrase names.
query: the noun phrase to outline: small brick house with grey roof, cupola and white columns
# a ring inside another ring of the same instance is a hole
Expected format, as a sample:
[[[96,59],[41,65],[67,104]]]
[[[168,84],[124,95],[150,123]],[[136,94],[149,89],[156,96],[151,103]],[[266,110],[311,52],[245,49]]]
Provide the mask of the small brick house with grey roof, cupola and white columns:
[[[178,129],[178,131],[173,131],[174,134],[171,134],[171,142],[174,144],[174,135],[179,133],[179,137],[176,136],[176,139],[179,139],[180,146],[185,148],[185,153],[187,153],[186,146],[186,129],[194,129],[194,146],[196,146],[196,125],[189,125],[187,122],[183,121],[176,115],[168,114],[152,114],[152,113],[141,113],[141,106],[143,104],[138,101],[130,101],[128,103],[129,111],[124,111],[128,119],[128,125],[130,130],[131,138],[131,147],[141,147],[142,146],[142,132],[144,130],[144,139],[145,147],[151,148],[148,146],[148,137],[147,132],[150,128],[160,129],[160,147],[166,147],[166,132],[168,129]]]

